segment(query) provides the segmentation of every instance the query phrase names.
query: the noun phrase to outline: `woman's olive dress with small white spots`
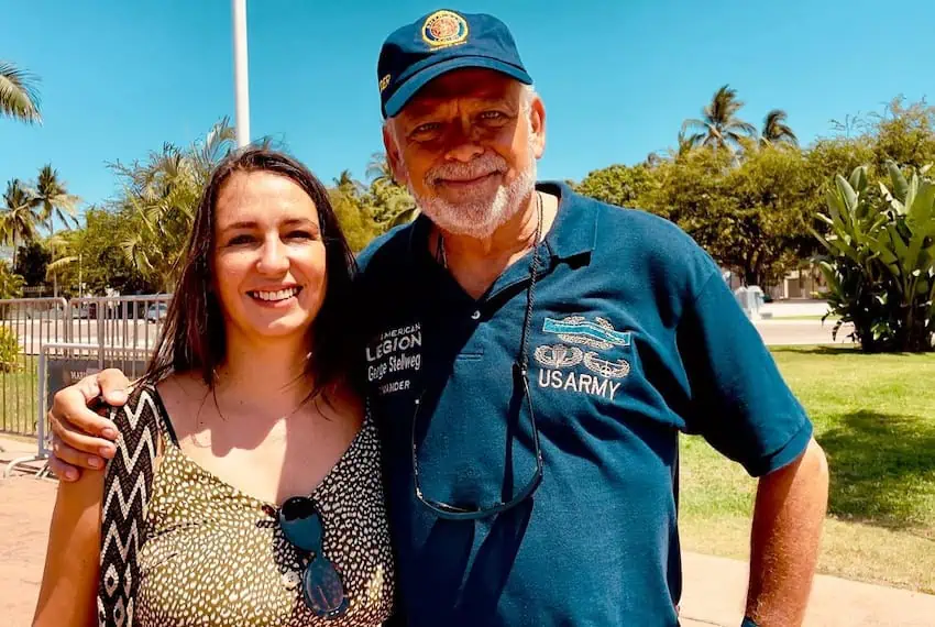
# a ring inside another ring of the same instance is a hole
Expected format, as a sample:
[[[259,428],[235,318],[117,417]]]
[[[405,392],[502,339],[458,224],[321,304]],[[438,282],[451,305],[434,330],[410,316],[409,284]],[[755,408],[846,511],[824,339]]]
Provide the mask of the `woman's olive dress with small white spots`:
[[[394,563],[373,420],[310,495],[321,512],[323,553],[350,605],[316,616],[302,600],[308,563],[283,536],[276,506],[224,483],[178,448],[155,388],[127,407],[158,421],[162,453],[144,515],[132,623],[140,627],[375,627],[394,607]]]

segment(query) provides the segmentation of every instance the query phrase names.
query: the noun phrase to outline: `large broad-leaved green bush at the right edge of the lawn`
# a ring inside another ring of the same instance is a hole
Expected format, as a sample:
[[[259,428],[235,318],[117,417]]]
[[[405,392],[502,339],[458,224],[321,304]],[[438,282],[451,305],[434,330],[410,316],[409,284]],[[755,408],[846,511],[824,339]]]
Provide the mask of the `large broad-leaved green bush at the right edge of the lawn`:
[[[828,283],[829,315],[854,323],[851,337],[867,352],[922,352],[935,334],[935,183],[913,172],[906,180],[887,164],[891,189],[871,194],[867,166],[850,179],[838,175],[813,231],[828,254],[818,265]],[[926,170],[923,169],[922,174]]]

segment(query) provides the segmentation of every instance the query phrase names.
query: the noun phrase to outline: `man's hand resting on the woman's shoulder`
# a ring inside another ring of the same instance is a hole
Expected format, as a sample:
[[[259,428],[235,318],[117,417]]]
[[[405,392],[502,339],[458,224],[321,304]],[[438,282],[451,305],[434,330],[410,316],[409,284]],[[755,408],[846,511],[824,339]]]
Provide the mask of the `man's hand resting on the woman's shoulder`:
[[[127,403],[130,381],[119,370],[111,369],[89,375],[58,391],[48,424],[52,427],[52,459],[50,469],[63,481],[76,481],[81,468],[102,469],[113,457],[117,427],[95,411],[101,400],[108,405]]]

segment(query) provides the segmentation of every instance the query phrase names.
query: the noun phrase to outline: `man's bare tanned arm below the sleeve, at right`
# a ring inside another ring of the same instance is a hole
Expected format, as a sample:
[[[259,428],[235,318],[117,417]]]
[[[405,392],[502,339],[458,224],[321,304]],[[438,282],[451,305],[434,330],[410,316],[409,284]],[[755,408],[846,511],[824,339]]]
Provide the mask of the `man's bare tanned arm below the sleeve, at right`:
[[[814,439],[794,462],[760,479],[746,612],[759,627],[802,625],[827,502],[827,461]]]

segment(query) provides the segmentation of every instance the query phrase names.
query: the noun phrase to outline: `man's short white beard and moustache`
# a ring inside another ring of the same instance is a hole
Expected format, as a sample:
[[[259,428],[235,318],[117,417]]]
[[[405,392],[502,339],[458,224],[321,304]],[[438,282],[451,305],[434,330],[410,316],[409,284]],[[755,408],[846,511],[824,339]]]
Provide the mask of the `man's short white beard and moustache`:
[[[486,172],[494,169],[492,166],[506,169],[506,162],[498,156],[484,155],[477,157],[475,162],[483,163],[487,167]],[[454,167],[477,170],[481,163],[475,162],[457,164]],[[431,170],[427,178],[446,167],[449,166],[441,166],[441,168]],[[529,165],[519,173],[519,176],[509,185],[499,186],[493,198],[477,198],[458,204],[449,202],[438,196],[419,195],[413,189],[411,183],[407,187],[419,210],[428,216],[439,229],[454,235],[481,240],[493,235],[497,229],[522,209],[522,201],[536,189],[536,160],[530,158]],[[429,182],[427,184],[431,187]]]

